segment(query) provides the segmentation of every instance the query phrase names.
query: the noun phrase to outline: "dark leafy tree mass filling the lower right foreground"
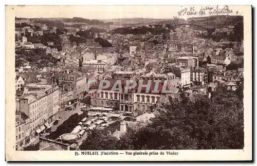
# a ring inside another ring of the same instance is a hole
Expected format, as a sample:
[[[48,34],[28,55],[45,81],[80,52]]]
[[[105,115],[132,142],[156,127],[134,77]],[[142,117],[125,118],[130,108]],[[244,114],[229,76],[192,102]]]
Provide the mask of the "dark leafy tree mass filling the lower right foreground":
[[[149,123],[128,127],[116,140],[106,131],[92,131],[82,150],[208,150],[243,149],[244,107],[235,91],[212,98],[169,100]]]

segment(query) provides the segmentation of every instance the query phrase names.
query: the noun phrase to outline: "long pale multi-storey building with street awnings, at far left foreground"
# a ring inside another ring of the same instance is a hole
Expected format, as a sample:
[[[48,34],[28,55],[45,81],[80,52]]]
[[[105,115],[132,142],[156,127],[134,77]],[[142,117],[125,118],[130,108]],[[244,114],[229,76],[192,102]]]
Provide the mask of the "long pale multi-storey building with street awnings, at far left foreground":
[[[16,112],[29,117],[29,137],[33,141],[37,135],[59,117],[59,88],[48,84],[27,84],[23,95],[16,99]]]

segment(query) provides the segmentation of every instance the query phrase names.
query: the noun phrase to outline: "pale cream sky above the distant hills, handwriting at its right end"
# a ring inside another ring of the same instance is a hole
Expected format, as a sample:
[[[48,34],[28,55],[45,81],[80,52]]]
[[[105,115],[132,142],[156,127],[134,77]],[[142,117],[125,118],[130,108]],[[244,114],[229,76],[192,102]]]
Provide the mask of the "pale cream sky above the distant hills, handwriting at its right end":
[[[13,6],[15,16],[29,18],[49,18],[49,17],[82,17],[85,19],[121,19],[143,17],[150,19],[173,19],[173,16],[178,16],[178,11],[194,7],[196,15],[179,16],[181,19],[189,17],[198,17],[202,6]],[[207,6],[203,6],[204,8]],[[211,6],[216,8],[216,6]],[[218,6],[223,8],[224,6]],[[229,15],[243,15],[242,6],[229,6],[232,13]],[[236,14],[237,13],[237,14]],[[208,13],[203,16],[209,16]]]

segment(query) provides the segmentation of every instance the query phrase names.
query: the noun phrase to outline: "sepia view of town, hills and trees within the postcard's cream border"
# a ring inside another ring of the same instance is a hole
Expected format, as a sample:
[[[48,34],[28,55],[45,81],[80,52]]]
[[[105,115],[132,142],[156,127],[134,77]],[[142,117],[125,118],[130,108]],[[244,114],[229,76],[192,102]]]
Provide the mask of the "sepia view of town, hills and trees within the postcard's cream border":
[[[15,17],[16,150],[243,149],[243,29]]]

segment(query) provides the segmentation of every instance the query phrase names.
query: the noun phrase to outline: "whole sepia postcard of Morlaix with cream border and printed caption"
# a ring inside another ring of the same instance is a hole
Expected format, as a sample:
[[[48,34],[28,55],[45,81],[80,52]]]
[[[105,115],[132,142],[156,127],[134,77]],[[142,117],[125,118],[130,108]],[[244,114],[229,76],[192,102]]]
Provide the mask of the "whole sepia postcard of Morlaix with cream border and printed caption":
[[[6,160],[252,160],[251,8],[6,6]]]

